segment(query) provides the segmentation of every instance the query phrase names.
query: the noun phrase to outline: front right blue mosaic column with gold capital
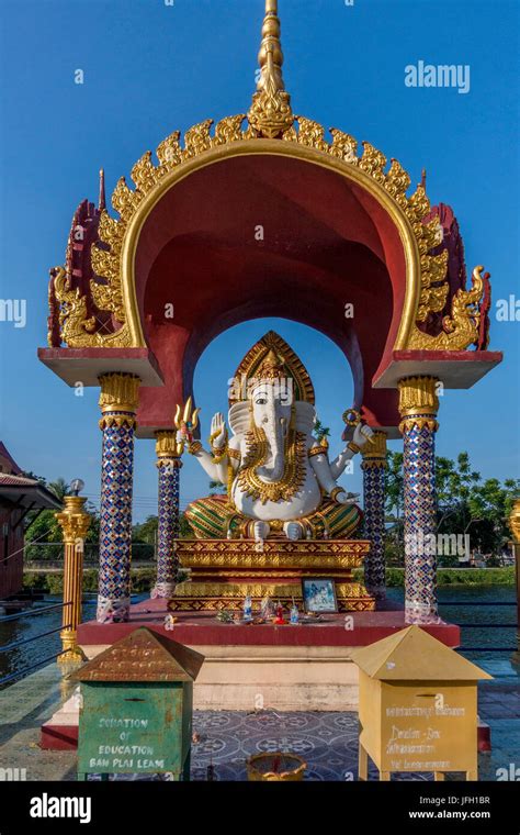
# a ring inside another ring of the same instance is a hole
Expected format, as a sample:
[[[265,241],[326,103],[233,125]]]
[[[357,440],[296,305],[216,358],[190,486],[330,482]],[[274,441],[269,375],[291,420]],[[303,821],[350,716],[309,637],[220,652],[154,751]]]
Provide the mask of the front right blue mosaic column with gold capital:
[[[434,377],[399,380],[399,430],[404,438],[405,617],[437,623],[436,420]]]

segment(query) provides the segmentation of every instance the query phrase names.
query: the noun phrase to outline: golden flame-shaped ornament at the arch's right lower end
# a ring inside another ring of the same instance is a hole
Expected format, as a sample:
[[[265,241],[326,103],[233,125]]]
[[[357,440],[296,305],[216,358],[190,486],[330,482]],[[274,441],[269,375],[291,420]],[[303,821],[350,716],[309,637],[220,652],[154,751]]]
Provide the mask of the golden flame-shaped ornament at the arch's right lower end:
[[[476,343],[481,323],[479,304],[484,296],[483,270],[482,265],[475,267],[471,289],[456,291],[451,303],[451,315],[444,316],[442,320],[443,330],[441,333],[438,336],[430,336],[430,334],[415,327],[408,348],[415,350],[465,350],[470,345]],[[437,308],[430,307],[430,310],[440,311],[443,307],[444,304]]]

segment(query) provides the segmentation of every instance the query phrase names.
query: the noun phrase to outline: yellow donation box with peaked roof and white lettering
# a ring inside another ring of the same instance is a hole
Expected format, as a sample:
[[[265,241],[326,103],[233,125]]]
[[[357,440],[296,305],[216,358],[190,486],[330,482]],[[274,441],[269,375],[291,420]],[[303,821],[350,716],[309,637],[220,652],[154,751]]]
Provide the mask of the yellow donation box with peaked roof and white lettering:
[[[477,681],[487,672],[420,626],[352,653],[360,671],[359,778],[369,756],[392,771],[477,772]]]

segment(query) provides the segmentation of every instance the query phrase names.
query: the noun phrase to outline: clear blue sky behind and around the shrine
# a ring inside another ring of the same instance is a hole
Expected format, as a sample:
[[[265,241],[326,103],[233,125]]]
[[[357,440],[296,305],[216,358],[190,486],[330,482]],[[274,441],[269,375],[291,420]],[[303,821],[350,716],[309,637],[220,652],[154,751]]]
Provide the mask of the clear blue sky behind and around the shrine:
[[[520,298],[518,12],[500,0],[280,0],[295,112],[370,141],[412,182],[425,166],[432,202],[455,210],[468,271],[491,272],[494,301]],[[79,201],[97,198],[101,166],[111,192],[172,130],[247,110],[263,0],[3,0],[0,14],[0,298],[25,299],[27,310],[25,327],[0,322],[0,437],[22,467],[49,480],[79,475],[97,497],[98,392],[75,397],[36,359],[47,270],[64,261]],[[419,60],[470,65],[470,92],[406,87],[405,67]],[[326,337],[283,321],[244,323],[206,349],[195,375],[204,436],[226,408],[228,377],[270,326],[307,365],[336,452],[350,370]],[[504,364],[441,403],[439,453],[467,449],[486,477],[519,471],[519,329],[493,316]],[[154,461],[154,442],[139,441],[136,519],[155,510]],[[207,492],[193,460],[182,481],[183,503]],[[359,470],[344,483],[360,489]]]

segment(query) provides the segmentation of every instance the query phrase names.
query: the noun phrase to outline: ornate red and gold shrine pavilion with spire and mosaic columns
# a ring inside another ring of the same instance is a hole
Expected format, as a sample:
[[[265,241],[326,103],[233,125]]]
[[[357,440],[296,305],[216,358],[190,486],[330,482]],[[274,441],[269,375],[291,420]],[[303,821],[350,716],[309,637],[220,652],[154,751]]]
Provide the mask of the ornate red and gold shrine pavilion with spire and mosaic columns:
[[[79,204],[65,265],[50,270],[48,347],[38,349],[39,359],[67,385],[81,380],[101,392],[98,621],[131,617],[135,437],[157,442],[155,593],[159,600],[176,599],[184,442],[174,414],[179,405],[182,414],[190,398],[196,402],[193,374],[212,339],[242,321],[279,316],[320,331],[350,364],[353,405],[372,430],[371,443],[361,449],[362,542],[366,594],[376,604],[384,595],[386,439],[403,437],[405,620],[436,624],[436,556],[423,542],[436,531],[439,387],[471,388],[501,360],[500,353],[488,350],[489,276],[476,266],[467,281],[454,213],[443,203],[430,204],[425,177],[410,190],[410,177],[397,159],[388,164],[369,142],[294,114],[282,77],[278,0],[265,0],[259,64],[248,112],[216,125],[207,119],[182,138],[173,131],[155,157],[147,151],[137,160],[133,185],[118,180],[113,212],[105,204],[101,172],[98,205]],[[258,218],[269,218],[276,230],[262,246],[252,234]],[[186,293],[188,286],[194,292]],[[346,301],[355,318],[346,319]],[[171,303],[174,316],[168,318]],[[262,374],[271,379],[279,360],[280,354],[262,366]],[[190,409],[184,416],[189,423]],[[194,433],[189,442],[196,449],[196,426]],[[348,426],[343,439],[350,444],[352,433]],[[310,452],[326,455],[323,448]],[[197,565],[205,560],[212,569],[202,572],[207,582],[199,598],[202,608],[225,605],[222,587],[239,584],[238,575],[242,582],[251,579],[251,542],[231,536],[227,543],[208,539],[204,547],[197,539],[184,546],[184,553],[191,548],[188,559],[194,560],[196,552],[202,555]],[[342,542],[347,550],[339,554],[336,570],[340,558],[352,554]],[[263,583],[282,548],[276,538],[268,537],[264,545]],[[240,552],[234,566],[238,559],[242,568],[230,579],[229,564],[216,554],[229,549]],[[316,574],[334,546],[308,536],[286,544],[285,555],[287,549],[307,559],[315,553],[308,565]],[[211,554],[216,554],[213,560]],[[291,559],[283,567],[285,579],[296,566],[296,557]],[[210,593],[210,586],[217,591]],[[180,597],[201,610],[189,591]],[[363,608],[373,605],[347,601],[342,606]],[[364,614],[373,619],[377,612]]]

